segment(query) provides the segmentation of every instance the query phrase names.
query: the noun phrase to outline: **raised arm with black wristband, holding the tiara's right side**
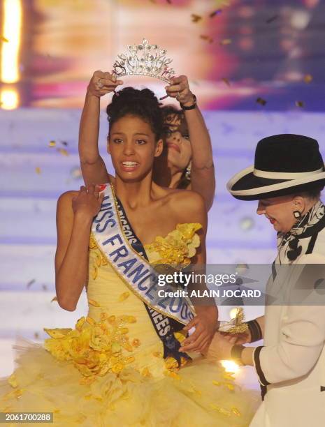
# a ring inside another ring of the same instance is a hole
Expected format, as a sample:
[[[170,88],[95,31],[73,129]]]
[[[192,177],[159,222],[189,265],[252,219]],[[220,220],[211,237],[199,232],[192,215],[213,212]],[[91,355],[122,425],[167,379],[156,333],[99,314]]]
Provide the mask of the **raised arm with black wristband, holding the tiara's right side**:
[[[185,75],[173,77],[166,92],[178,98],[185,106],[193,105],[193,93]],[[179,93],[179,96],[178,96]],[[215,197],[215,167],[213,164],[212,145],[208,129],[198,105],[193,110],[185,110],[185,119],[189,128],[189,140],[192,147],[191,189],[201,194],[207,211]]]

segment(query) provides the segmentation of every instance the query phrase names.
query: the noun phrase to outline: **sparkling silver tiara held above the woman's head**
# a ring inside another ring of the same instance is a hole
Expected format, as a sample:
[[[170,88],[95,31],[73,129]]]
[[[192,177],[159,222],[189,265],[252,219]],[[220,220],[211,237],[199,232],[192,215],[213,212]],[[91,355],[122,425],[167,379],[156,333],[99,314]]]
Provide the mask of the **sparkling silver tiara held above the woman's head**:
[[[145,38],[141,45],[129,45],[127,50],[127,53],[117,55],[119,59],[113,64],[112,73],[116,77],[147,75],[168,83],[175,75],[173,68],[168,67],[173,60],[166,58],[167,51],[150,45]]]

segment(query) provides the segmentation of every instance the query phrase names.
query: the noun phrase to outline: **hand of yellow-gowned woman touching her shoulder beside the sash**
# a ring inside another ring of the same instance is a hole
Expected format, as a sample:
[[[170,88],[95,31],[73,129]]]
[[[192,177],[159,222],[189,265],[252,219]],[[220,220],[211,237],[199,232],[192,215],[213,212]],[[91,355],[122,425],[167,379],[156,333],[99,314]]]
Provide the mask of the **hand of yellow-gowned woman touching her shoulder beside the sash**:
[[[92,219],[99,213],[104,193],[99,194],[99,186],[81,186],[78,196],[72,199],[73,213],[83,213],[87,218]]]

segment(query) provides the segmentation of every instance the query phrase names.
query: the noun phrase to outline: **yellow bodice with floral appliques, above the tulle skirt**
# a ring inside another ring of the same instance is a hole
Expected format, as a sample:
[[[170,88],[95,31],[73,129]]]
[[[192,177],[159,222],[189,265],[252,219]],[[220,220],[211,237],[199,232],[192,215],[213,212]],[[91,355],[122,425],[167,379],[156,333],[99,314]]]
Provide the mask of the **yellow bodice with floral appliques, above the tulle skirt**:
[[[188,265],[200,245],[200,229],[198,223],[178,224],[166,237],[156,237],[144,246],[150,264]],[[129,365],[145,376],[175,370],[174,360],[162,359],[163,345],[143,301],[117,275],[93,235],[87,299],[88,316],[78,320],[75,329],[46,329],[51,338],[45,340],[45,348],[57,359],[73,362],[83,381],[120,373]],[[179,332],[176,338],[184,336]]]

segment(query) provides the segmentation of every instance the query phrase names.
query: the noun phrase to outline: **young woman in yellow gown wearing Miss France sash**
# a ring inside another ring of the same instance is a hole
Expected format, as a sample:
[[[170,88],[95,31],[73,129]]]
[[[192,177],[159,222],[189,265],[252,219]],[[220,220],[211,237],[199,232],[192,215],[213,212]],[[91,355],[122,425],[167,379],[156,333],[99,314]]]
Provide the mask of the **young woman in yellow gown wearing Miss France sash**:
[[[86,285],[89,313],[20,349],[0,382],[0,412],[53,412],[64,427],[248,426],[255,395],[200,354],[217,308],[164,305],[143,273],[150,263],[205,263],[203,198],[152,182],[162,118],[151,91],[123,89],[108,114],[114,186],[82,187],[57,204],[57,301],[74,310]],[[196,328],[190,354],[180,352],[186,324]]]

